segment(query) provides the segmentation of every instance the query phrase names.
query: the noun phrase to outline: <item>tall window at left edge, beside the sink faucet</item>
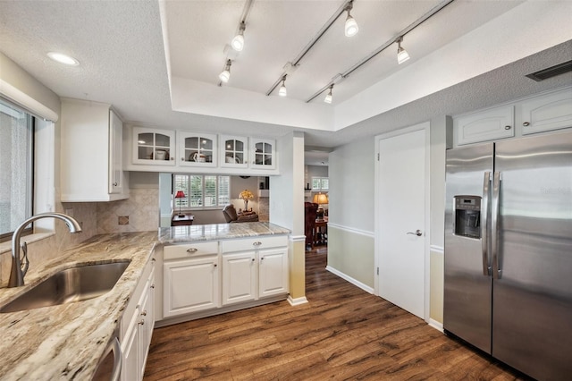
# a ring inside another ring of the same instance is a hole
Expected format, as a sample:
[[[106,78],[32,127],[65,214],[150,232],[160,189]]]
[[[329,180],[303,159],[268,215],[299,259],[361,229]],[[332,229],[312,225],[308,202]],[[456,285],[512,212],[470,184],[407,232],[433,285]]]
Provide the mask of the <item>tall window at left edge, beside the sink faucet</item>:
[[[0,98],[0,241],[31,216],[33,152],[34,117]]]

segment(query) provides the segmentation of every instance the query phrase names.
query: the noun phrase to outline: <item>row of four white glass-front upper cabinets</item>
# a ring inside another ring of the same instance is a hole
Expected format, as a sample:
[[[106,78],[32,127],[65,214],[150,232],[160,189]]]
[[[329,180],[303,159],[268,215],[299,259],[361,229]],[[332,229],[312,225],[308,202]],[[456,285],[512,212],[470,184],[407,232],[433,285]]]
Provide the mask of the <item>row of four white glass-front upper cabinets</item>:
[[[127,171],[278,174],[276,140],[128,126]]]

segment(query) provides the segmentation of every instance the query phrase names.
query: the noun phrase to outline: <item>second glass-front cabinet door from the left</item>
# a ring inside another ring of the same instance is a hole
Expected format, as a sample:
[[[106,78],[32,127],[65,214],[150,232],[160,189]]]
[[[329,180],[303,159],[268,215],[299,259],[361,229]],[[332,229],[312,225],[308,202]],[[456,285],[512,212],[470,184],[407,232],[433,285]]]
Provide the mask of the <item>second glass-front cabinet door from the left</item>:
[[[179,165],[216,166],[216,135],[179,133]]]

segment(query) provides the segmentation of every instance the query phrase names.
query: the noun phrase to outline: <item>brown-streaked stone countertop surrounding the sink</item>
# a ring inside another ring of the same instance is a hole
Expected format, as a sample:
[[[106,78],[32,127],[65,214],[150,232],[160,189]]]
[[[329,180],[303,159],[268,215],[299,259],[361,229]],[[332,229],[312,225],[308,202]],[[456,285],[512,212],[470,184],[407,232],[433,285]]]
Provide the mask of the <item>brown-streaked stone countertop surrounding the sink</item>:
[[[130,260],[114,288],[97,298],[0,313],[0,379],[91,379],[156,242],[156,232],[97,235],[55,260],[31,263],[24,286],[0,289],[4,305],[65,268]]]

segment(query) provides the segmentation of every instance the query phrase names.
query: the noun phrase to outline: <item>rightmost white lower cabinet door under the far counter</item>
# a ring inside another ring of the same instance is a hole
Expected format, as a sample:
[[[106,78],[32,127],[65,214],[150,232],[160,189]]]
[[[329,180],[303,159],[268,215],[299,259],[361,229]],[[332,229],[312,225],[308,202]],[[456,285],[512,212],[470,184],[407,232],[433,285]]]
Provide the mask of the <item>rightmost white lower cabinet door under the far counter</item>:
[[[289,292],[288,249],[258,252],[258,297]]]

